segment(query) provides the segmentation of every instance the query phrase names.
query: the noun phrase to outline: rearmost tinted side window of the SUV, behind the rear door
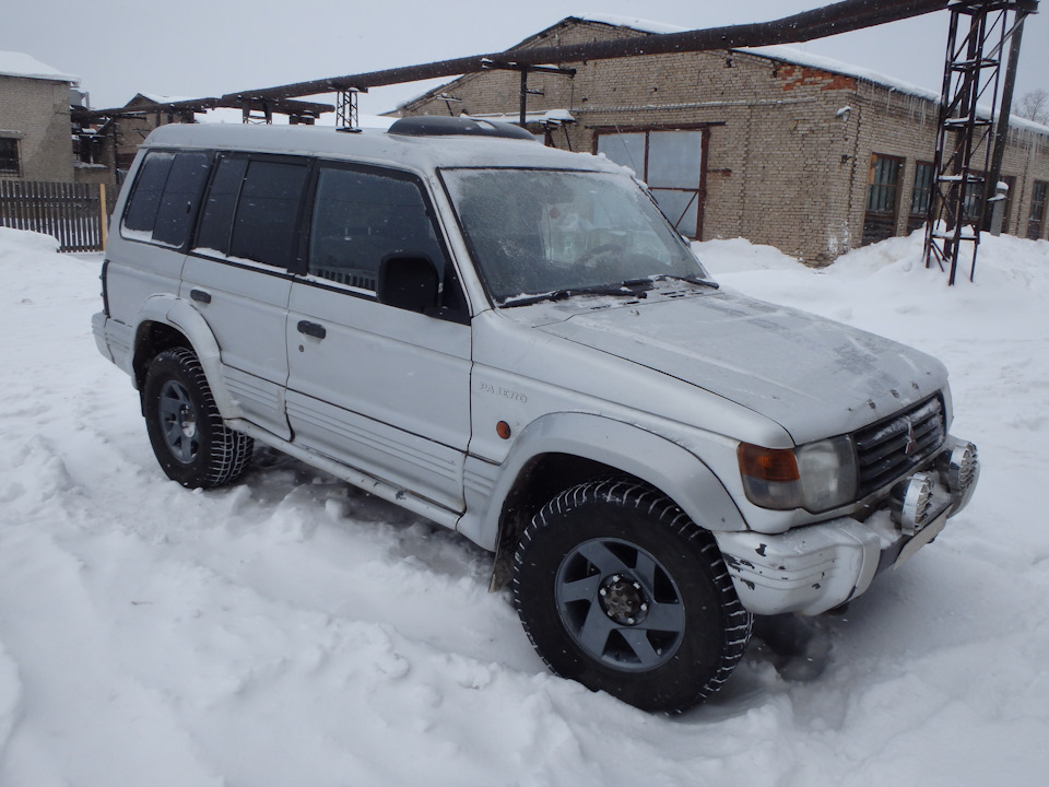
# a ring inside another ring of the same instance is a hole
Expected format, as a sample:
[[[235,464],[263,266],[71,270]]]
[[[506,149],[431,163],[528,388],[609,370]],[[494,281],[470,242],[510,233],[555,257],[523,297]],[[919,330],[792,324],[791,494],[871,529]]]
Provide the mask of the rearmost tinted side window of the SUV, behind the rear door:
[[[151,152],[142,163],[123,218],[125,235],[164,246],[189,239],[211,171],[211,153]]]

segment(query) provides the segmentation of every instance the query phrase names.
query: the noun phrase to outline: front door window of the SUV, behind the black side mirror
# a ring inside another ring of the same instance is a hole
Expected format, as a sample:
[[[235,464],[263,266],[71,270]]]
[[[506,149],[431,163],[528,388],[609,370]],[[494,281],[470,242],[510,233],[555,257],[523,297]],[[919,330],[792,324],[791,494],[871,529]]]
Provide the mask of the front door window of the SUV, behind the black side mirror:
[[[445,255],[417,184],[404,176],[321,168],[309,243],[309,272],[374,292],[379,262],[394,251]]]

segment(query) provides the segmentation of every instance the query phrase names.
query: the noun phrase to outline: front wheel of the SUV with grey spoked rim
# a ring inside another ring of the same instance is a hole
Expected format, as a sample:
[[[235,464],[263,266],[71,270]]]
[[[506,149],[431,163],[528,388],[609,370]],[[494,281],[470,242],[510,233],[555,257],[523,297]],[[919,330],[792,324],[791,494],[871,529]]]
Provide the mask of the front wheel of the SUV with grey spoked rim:
[[[743,656],[752,616],[708,532],[632,480],[567,490],[515,555],[521,623],[557,674],[646,710],[702,703]]]

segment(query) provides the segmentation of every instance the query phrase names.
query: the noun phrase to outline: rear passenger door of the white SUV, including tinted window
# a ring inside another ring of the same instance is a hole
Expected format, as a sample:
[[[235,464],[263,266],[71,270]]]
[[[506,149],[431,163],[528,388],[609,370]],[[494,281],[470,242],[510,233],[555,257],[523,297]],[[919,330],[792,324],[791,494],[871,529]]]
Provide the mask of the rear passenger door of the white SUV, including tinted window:
[[[285,439],[288,268],[309,168],[304,157],[221,155],[179,293],[211,327],[245,418]]]

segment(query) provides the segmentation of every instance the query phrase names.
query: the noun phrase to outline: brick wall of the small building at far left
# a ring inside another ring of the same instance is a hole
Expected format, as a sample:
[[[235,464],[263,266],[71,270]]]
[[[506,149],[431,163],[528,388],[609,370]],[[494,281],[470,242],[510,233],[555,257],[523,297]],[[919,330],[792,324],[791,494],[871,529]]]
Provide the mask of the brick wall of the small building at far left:
[[[69,83],[0,75],[0,137],[19,140],[23,180],[73,179]]]

